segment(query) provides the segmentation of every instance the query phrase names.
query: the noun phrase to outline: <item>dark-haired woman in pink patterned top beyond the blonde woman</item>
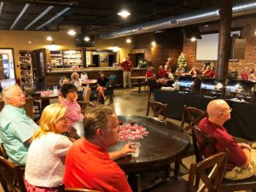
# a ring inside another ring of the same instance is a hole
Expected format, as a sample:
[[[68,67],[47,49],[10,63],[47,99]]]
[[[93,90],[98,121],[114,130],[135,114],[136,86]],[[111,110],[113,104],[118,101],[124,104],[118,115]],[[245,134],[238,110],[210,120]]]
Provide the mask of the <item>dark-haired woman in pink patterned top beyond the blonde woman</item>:
[[[84,115],[78,100],[77,87],[74,84],[63,84],[61,87],[61,94],[64,97],[62,104],[67,108],[67,126],[71,137],[75,137],[73,128],[78,132],[81,137],[83,134],[82,120]],[[73,136],[74,134],[74,136]]]

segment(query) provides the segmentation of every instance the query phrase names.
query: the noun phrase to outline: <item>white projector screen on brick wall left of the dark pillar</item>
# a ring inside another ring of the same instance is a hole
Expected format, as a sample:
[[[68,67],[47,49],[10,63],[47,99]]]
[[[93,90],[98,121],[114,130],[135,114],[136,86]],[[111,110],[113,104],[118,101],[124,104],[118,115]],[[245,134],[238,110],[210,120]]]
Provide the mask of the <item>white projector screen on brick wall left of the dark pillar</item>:
[[[218,33],[201,35],[196,44],[196,61],[217,61]]]

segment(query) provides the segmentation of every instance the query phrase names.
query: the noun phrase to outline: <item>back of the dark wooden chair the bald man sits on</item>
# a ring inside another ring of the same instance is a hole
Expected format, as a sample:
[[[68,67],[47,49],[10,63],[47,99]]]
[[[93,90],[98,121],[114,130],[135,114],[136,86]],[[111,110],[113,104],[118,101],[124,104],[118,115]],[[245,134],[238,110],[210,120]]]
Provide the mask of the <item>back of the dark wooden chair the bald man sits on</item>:
[[[205,154],[216,154],[214,139],[201,131],[201,129],[199,129],[197,125],[194,125],[192,127],[192,139],[195,150],[196,162],[205,160],[207,158]]]

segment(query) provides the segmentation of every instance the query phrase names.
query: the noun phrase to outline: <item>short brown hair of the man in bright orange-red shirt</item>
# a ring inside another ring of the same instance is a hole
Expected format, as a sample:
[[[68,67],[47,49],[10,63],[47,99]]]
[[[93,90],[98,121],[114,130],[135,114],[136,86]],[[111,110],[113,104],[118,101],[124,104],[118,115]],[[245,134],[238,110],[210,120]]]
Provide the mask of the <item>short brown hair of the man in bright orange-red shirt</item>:
[[[108,129],[108,116],[112,115],[113,108],[93,108],[84,114],[84,137],[88,140],[96,136],[97,129]]]

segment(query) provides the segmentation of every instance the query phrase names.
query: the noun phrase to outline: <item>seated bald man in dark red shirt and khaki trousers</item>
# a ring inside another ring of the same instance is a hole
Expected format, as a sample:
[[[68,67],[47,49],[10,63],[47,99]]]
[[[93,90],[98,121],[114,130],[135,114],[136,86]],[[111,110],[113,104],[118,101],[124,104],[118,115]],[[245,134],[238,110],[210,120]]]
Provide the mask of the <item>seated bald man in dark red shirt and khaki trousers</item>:
[[[256,160],[254,159],[256,159],[256,155],[249,145],[237,143],[236,139],[225,130],[223,125],[224,122],[230,119],[231,111],[232,108],[224,100],[213,100],[207,106],[208,118],[201,119],[198,127],[214,138],[217,153],[229,148],[228,165],[226,167],[228,172],[225,178],[238,180],[255,175]]]

